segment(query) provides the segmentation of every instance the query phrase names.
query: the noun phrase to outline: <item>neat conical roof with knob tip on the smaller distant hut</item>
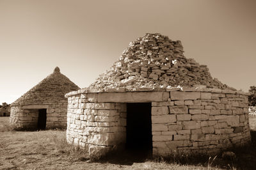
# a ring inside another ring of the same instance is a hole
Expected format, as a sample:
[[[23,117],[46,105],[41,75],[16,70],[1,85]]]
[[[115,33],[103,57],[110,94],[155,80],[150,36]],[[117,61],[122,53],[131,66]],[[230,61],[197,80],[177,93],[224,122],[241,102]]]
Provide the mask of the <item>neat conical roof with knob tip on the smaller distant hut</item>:
[[[60,73],[58,66],[54,72],[18,98],[12,105],[51,104],[65,100],[65,94],[80,89],[68,77]]]

